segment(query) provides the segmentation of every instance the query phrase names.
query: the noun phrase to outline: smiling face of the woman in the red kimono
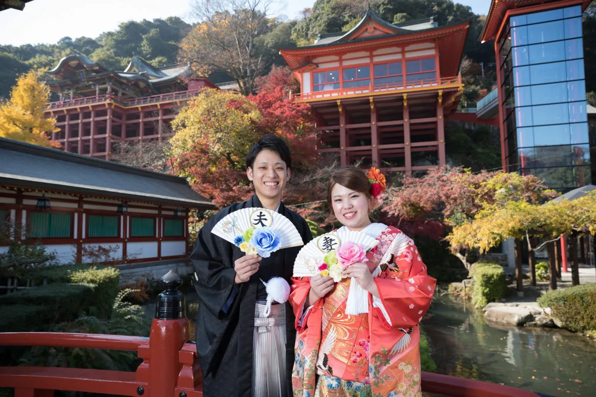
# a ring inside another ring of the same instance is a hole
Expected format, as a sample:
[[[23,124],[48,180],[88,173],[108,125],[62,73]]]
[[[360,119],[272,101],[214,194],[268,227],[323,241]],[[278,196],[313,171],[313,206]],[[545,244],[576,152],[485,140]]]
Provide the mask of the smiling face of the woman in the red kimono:
[[[364,193],[355,192],[337,183],[331,189],[333,213],[350,230],[362,230],[371,223],[368,218],[370,204]]]

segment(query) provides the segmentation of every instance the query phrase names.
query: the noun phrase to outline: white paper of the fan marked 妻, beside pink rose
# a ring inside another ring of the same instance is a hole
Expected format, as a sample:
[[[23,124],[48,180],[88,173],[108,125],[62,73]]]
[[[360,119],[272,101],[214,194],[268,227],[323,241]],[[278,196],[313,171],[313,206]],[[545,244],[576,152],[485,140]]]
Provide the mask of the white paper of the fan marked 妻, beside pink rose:
[[[318,236],[300,249],[294,261],[294,277],[310,277],[319,273],[318,267],[323,263],[323,258],[330,251],[334,251],[343,243],[352,242],[362,246],[366,251],[374,248],[378,240],[366,233],[353,230],[338,230]],[[331,275],[331,274],[330,274]],[[334,277],[335,279],[335,277]]]

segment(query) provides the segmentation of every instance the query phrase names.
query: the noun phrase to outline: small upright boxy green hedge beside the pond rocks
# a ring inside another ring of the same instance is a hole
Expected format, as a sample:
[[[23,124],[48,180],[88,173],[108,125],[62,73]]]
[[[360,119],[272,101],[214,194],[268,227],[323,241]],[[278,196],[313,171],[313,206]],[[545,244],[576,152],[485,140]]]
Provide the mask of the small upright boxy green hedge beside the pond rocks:
[[[483,307],[505,295],[507,282],[501,265],[492,262],[476,262],[470,269],[470,276],[474,279],[472,304],[475,307]]]

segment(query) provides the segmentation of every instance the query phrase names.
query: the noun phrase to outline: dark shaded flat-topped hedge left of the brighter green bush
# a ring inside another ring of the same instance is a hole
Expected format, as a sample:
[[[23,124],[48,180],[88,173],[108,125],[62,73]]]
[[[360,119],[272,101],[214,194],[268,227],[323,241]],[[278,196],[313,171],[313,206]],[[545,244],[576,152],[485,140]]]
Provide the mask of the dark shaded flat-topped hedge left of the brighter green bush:
[[[94,302],[92,284],[48,284],[0,296],[0,305],[34,305],[48,310],[50,321],[70,321]]]

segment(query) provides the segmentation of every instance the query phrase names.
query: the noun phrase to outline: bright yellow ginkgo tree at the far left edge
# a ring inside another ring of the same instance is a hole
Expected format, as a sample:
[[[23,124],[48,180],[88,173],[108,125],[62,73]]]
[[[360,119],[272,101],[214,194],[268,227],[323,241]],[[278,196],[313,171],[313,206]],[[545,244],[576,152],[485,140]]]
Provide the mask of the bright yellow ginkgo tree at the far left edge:
[[[49,87],[39,82],[39,72],[30,70],[18,77],[10,99],[0,104],[0,137],[60,147],[49,139],[48,133],[57,132],[56,120],[45,117]]]

